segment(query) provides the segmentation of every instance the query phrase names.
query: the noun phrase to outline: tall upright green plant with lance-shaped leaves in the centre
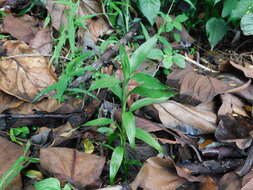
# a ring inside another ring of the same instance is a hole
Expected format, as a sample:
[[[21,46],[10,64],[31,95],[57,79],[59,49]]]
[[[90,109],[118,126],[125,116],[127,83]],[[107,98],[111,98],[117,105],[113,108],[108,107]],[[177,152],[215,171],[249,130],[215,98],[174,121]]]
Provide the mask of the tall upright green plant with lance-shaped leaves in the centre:
[[[135,116],[133,112],[140,109],[143,106],[147,106],[153,103],[165,101],[174,95],[172,90],[166,85],[162,84],[159,80],[145,73],[136,73],[138,67],[148,57],[149,52],[155,46],[158,40],[158,35],[155,35],[143,43],[131,56],[128,58],[126,50],[120,48],[120,61],[122,65],[123,79],[118,80],[114,76],[101,74],[100,78],[95,80],[89,91],[99,88],[108,88],[111,90],[121,101],[122,113],[121,125],[118,125],[115,121],[108,118],[99,118],[93,121],[89,121],[84,126],[104,126],[112,124],[118,130],[112,131],[110,128],[102,127],[100,132],[104,132],[108,135],[109,144],[119,137],[120,145],[115,148],[110,146],[113,150],[111,163],[110,163],[110,182],[113,183],[114,178],[123,164],[126,166],[127,155],[125,147],[127,141],[132,148],[135,147],[135,138],[140,139],[150,146],[154,147],[159,152],[162,152],[162,148],[159,143],[147,132],[135,126]],[[139,85],[133,90],[129,90],[129,81],[135,80]],[[131,94],[139,94],[145,98],[140,99],[133,103],[130,107],[127,107],[127,99]]]

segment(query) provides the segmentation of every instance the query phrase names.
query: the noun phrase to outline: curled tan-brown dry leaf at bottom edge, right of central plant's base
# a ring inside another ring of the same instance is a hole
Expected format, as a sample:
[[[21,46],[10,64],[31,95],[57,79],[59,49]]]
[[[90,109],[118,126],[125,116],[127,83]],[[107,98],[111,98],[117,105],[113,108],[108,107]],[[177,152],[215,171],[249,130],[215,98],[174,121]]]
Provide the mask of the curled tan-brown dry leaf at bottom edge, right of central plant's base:
[[[132,190],[138,187],[144,190],[169,190],[185,182],[186,179],[177,175],[172,160],[152,157],[142,166],[131,187]]]

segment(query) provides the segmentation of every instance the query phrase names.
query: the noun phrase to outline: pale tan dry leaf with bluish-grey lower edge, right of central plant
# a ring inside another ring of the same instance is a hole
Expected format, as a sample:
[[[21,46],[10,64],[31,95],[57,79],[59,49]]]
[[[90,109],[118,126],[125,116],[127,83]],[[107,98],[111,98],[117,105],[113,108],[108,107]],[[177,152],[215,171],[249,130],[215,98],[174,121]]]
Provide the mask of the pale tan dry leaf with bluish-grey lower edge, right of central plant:
[[[154,104],[165,127],[177,128],[192,135],[213,133],[216,129],[216,114],[201,106],[186,106],[175,101]]]

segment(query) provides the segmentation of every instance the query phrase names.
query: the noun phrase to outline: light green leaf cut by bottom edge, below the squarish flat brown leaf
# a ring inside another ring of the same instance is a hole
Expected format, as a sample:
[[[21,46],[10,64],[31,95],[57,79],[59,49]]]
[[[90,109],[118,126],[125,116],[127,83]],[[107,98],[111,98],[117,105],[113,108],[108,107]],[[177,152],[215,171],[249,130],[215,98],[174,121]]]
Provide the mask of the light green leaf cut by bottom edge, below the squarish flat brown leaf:
[[[47,178],[42,181],[35,183],[34,185],[36,190],[61,190],[61,184],[56,178]]]

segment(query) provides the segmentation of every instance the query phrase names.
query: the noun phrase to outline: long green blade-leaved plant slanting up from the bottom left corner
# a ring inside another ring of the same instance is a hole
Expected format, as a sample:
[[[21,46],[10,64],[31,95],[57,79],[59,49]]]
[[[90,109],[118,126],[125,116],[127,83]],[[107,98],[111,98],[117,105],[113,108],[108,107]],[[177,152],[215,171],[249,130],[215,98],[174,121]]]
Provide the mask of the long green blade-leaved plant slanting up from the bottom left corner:
[[[20,156],[15,163],[3,174],[0,179],[0,190],[4,190],[13,179],[21,172],[22,169],[26,168],[30,163],[38,163],[38,159],[30,158],[28,151],[30,149],[30,142],[28,141],[25,148],[24,154]]]

